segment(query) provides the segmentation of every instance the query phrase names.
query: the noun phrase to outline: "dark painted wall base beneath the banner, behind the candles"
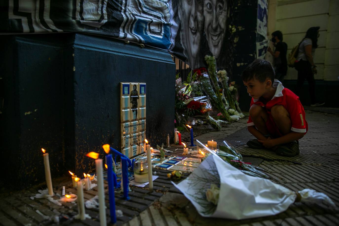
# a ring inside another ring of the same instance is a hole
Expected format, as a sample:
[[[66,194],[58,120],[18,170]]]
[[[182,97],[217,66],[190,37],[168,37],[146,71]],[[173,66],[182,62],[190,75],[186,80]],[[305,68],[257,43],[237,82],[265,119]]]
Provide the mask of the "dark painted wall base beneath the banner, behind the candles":
[[[1,171],[16,188],[93,169],[84,156],[120,143],[119,82],[146,82],[147,138],[173,137],[175,64],[171,56],[81,34],[1,36]],[[26,112],[26,114],[25,114]],[[172,138],[171,138],[172,139]],[[11,172],[11,173],[9,173]]]

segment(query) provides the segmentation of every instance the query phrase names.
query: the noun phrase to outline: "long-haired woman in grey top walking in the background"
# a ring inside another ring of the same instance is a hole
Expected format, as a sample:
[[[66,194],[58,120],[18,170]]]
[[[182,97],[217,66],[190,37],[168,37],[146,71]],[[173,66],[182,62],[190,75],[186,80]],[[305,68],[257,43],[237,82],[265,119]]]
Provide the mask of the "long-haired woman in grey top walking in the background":
[[[311,106],[321,106],[324,102],[316,101],[315,80],[314,75],[317,74],[317,66],[314,64],[314,52],[318,47],[320,27],[310,27],[306,32],[305,38],[299,44],[299,53],[295,63],[295,68],[298,70],[298,80],[296,95],[300,96],[300,90],[305,79],[308,82],[308,87],[311,97]]]

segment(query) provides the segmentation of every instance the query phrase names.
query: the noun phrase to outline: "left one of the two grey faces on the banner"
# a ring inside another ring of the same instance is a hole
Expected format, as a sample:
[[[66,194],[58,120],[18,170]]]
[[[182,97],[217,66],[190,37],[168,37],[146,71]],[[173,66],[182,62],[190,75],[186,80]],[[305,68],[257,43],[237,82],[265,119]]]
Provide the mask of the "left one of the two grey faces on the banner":
[[[181,40],[187,52],[187,63],[194,68],[203,26],[202,5],[197,0],[182,0],[178,7]]]

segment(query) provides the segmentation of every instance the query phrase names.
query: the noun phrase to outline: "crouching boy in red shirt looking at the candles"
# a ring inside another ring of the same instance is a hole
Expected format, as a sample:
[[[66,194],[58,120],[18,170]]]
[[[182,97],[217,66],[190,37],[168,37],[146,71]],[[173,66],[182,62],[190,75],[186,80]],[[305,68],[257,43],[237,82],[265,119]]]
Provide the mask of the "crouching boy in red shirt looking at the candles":
[[[247,128],[257,139],[251,148],[270,148],[278,155],[299,154],[299,142],[308,126],[299,97],[274,79],[270,62],[257,59],[242,73],[247,93],[252,97]]]

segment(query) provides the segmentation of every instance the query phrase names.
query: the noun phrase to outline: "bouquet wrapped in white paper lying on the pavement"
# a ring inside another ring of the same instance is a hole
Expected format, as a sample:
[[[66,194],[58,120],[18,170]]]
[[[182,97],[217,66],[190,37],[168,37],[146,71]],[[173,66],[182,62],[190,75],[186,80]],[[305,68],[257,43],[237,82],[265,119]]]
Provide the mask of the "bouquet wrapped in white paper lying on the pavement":
[[[265,173],[253,175],[253,170],[240,170],[228,159],[221,158],[217,151],[208,149],[197,141],[198,148],[211,154],[191,175],[179,184],[174,184],[195,206],[203,217],[226,219],[248,219],[275,215],[285,211],[294,202],[317,202],[334,208],[333,201],[324,193],[311,189],[298,192],[276,184]],[[227,142],[225,142],[228,146]],[[228,148],[235,149],[232,146]],[[225,156],[225,153],[222,153]],[[227,154],[226,154],[227,155]],[[232,154],[230,154],[231,156]],[[231,160],[237,166],[245,165],[240,160]],[[251,171],[252,170],[252,171]],[[255,169],[256,170],[256,169]]]

